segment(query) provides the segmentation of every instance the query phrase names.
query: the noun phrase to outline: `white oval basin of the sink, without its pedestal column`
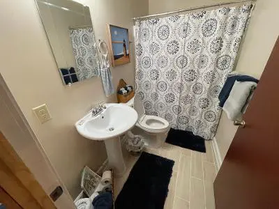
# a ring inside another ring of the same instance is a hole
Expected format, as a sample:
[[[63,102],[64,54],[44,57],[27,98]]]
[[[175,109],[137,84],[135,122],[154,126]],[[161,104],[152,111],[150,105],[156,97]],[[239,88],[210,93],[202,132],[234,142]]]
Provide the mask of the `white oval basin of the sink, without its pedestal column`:
[[[117,137],[130,130],[137,122],[137,111],[125,104],[105,104],[105,109],[96,117],[91,112],[75,123],[77,132],[93,140]]]

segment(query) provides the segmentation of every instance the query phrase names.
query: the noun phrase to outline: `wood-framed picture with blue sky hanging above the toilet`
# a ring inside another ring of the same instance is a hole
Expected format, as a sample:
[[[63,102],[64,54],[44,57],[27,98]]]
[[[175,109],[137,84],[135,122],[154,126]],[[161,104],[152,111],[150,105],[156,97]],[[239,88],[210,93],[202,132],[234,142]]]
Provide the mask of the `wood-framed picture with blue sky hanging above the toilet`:
[[[112,66],[130,63],[128,29],[107,24],[107,33],[110,41],[110,54],[112,54]]]

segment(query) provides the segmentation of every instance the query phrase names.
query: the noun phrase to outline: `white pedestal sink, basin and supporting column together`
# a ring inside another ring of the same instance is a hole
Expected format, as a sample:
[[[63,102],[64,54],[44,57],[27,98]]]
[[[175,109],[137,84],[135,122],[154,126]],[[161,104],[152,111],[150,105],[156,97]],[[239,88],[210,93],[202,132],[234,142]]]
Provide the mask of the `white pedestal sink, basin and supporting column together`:
[[[119,136],[130,130],[137,122],[137,111],[126,104],[105,104],[106,109],[98,116],[86,114],[75,123],[77,132],[87,139],[105,141],[109,166],[116,176],[126,171]]]

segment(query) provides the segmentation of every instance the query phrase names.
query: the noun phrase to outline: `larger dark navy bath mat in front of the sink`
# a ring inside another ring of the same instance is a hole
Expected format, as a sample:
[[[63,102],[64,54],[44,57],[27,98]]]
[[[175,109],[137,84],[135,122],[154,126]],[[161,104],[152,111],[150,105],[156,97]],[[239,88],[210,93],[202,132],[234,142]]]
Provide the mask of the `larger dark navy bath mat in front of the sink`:
[[[142,153],[115,202],[116,209],[163,209],[173,160]]]

